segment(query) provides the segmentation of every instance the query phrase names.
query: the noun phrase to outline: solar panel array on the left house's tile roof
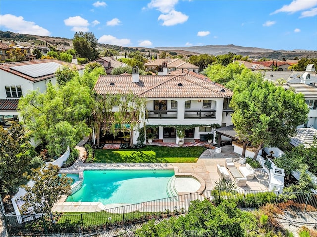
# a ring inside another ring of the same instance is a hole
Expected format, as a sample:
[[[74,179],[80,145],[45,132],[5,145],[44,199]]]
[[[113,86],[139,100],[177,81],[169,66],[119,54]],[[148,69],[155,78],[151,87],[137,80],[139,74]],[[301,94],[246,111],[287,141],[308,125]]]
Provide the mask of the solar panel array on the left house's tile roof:
[[[57,71],[59,67],[61,67],[61,65],[56,62],[45,62],[31,65],[13,66],[10,67],[10,69],[21,72],[30,77],[36,78],[53,74]]]

